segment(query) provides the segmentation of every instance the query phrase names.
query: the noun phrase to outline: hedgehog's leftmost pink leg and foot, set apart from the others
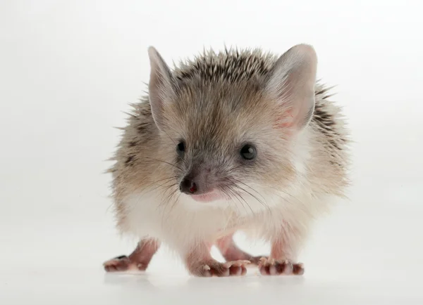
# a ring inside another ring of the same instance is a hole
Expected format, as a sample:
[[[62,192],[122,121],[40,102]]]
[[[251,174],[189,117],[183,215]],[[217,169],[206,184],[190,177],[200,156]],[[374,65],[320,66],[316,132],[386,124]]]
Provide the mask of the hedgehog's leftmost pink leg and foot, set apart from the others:
[[[122,255],[106,261],[103,266],[107,272],[145,271],[154,253],[160,247],[159,240],[146,238],[138,242],[135,250],[127,257]]]

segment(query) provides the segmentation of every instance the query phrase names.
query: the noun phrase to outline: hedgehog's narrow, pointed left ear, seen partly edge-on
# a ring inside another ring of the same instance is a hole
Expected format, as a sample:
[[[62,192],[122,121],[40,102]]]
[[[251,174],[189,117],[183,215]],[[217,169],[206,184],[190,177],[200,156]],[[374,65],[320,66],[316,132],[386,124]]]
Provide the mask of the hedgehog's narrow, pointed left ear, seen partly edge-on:
[[[171,70],[156,48],[150,46],[148,56],[151,69],[148,84],[149,102],[154,122],[161,129],[164,126],[164,107],[175,95],[175,82]]]

